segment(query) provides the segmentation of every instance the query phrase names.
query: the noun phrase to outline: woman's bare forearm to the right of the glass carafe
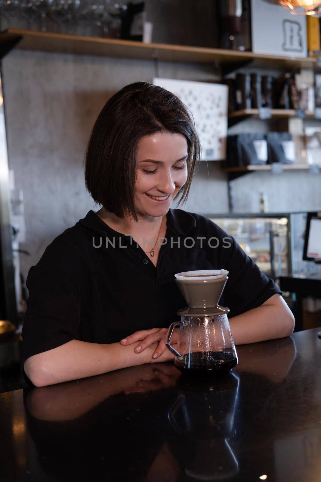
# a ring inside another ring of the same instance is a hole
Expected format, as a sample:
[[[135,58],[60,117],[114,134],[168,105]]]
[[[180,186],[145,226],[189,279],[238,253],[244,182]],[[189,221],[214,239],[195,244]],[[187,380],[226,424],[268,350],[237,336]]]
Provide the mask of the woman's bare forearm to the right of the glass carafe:
[[[295,319],[281,295],[275,294],[261,306],[229,319],[235,345],[292,335]]]

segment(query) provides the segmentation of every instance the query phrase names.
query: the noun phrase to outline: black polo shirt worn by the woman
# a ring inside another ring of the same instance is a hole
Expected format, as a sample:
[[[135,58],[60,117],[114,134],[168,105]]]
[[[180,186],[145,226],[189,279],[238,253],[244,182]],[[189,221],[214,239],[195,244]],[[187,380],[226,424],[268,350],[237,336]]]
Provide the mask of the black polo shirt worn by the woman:
[[[282,292],[207,217],[169,209],[157,267],[130,235],[118,233],[93,211],[57,236],[29,270],[22,329],[23,363],[72,340],[115,343],[137,330],[168,328],[186,306],[175,273],[229,271],[219,301],[229,318]]]

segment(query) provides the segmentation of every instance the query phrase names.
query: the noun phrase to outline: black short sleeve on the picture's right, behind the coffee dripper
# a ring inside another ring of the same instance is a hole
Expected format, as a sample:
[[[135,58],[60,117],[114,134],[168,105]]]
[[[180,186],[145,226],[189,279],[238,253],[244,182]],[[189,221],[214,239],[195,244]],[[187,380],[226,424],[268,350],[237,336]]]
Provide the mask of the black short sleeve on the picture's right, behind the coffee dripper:
[[[229,271],[223,292],[224,306],[230,308],[229,318],[261,306],[277,293],[282,295],[274,281],[258,268],[235,239],[218,229],[221,240],[224,240],[219,250],[219,268]]]

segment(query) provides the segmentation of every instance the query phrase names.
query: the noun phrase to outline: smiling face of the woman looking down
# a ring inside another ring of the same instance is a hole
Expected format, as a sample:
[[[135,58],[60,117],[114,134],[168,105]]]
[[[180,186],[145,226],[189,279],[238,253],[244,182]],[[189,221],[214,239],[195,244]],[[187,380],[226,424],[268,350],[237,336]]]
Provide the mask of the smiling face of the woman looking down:
[[[137,213],[164,216],[187,181],[187,140],[182,134],[156,133],[141,138],[135,185]]]

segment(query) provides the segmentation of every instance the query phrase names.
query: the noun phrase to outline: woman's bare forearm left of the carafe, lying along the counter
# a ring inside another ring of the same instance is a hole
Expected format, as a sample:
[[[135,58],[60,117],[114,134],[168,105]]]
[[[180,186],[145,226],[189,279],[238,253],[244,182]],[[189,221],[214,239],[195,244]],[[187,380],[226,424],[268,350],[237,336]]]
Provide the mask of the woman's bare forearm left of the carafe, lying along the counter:
[[[29,357],[24,363],[24,370],[36,387],[45,387],[128,366],[174,360],[174,355],[169,350],[157,360],[153,360],[152,355],[157,343],[141,353],[136,353],[134,348],[139,343],[126,347],[120,343],[99,344],[71,340],[57,348]]]

